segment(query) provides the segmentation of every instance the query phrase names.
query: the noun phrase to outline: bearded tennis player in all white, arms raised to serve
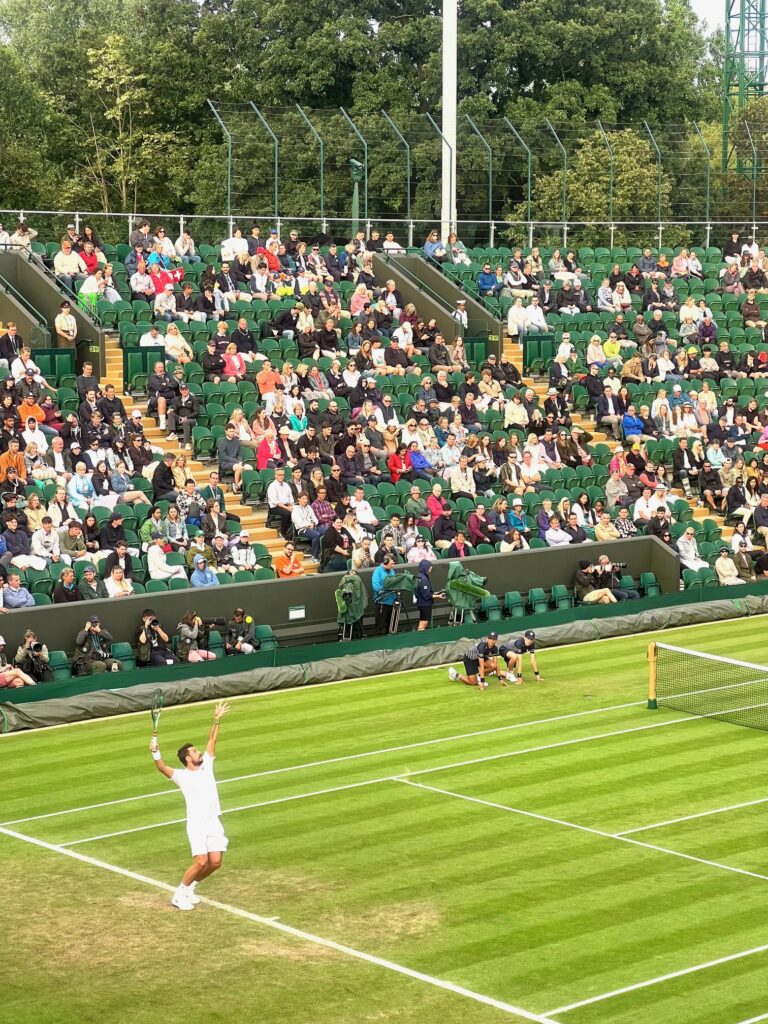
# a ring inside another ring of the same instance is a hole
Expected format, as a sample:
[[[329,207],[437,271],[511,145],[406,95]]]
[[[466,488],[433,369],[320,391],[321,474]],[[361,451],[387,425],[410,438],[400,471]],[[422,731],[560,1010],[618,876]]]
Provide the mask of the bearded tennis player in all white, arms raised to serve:
[[[183,765],[180,770],[163,761],[157,736],[153,736],[150,743],[156,768],[181,790],[186,803],[186,835],[193,862],[171,897],[171,904],[179,910],[193,910],[200,903],[195,887],[221,867],[221,858],[229,842],[219,819],[221,807],[213,773],[219,725],[228,711],[229,705],[223,701],[216,705],[205,754],[201,754],[194,743],[179,748],[178,759]]]

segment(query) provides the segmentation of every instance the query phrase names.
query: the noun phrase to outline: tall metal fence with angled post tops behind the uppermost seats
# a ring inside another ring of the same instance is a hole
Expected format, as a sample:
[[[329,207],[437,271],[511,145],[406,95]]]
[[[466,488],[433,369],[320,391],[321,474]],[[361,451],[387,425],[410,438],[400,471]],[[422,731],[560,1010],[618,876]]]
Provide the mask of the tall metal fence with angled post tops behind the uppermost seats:
[[[29,218],[45,240],[68,222],[90,221],[125,242],[145,216],[169,231],[189,227],[212,244],[238,223],[290,226],[303,238],[352,234],[359,168],[367,231],[392,230],[419,246],[440,219],[440,125],[429,113],[258,109],[208,101],[221,136],[220,205],[171,213],[4,210]],[[721,126],[550,121],[515,125],[460,111],[456,139],[456,229],[467,246],[722,245],[732,227],[765,236],[768,129],[735,119],[724,168]],[[218,166],[218,164],[217,164]],[[183,209],[183,208],[182,208]],[[6,224],[7,226],[7,224]]]

